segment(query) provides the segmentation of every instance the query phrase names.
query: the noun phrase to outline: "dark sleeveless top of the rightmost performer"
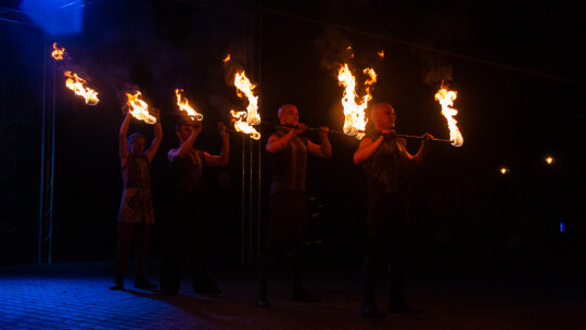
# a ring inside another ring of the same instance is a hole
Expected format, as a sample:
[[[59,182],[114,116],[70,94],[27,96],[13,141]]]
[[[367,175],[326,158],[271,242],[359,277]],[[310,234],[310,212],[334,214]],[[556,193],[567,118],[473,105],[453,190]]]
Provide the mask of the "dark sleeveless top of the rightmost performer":
[[[379,135],[367,134],[375,140]],[[409,192],[409,157],[406,140],[394,136],[385,136],[383,142],[362,163],[367,176],[368,194],[386,194],[406,199]]]

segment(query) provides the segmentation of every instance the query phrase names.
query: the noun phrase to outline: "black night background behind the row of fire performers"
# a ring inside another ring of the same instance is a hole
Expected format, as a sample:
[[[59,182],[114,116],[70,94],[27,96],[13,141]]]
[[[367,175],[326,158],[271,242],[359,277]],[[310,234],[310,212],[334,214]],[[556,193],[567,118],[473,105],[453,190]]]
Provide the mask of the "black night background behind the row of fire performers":
[[[17,9],[17,1],[0,7]],[[586,234],[584,14],[577,1],[103,0],[87,1],[80,34],[47,40],[38,27],[0,21],[0,263],[36,262],[43,61],[48,77],[58,73],[59,81],[72,67],[101,99],[87,106],[69,90],[55,90],[53,261],[71,262],[114,255],[122,192],[117,131],[124,92],[132,87],[163,111],[164,140],[152,164],[157,225],[151,254],[160,255],[173,200],[165,154],[177,143],[175,89],[186,90],[209,125],[229,123],[229,110],[246,105],[227,84],[221,60],[230,53],[259,84],[263,120],[277,122],[278,106],[293,103],[302,122],[336,130],[343,126],[342,62],[359,81],[360,69],[374,67],[373,101],[393,104],[404,134],[448,138],[433,98],[445,79],[458,91],[464,143],[437,142],[413,180],[412,266],[578,275]],[[43,47],[54,41],[71,60],[47,58]],[[150,139],[153,128],[133,122],[130,130]],[[270,127],[262,132],[264,145]],[[241,141],[231,135],[230,164],[207,177],[218,210],[214,253],[234,262],[242,230]],[[323,243],[316,252],[359,261],[364,187],[352,163],[358,141],[336,135],[331,141],[333,156],[308,164],[308,189],[321,205],[313,234]],[[208,129],[196,144],[217,153],[219,138]],[[415,153],[418,142],[409,148]],[[265,161],[263,196],[270,176]],[[502,175],[502,166],[510,173]],[[219,185],[226,175],[227,187]]]

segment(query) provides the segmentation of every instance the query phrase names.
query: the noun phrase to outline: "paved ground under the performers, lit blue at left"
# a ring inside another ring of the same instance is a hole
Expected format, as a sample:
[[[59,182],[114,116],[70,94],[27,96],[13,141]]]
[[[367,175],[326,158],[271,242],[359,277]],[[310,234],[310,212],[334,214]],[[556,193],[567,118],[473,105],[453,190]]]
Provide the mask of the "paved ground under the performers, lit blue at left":
[[[356,271],[314,276],[323,302],[289,300],[290,282],[271,282],[270,309],[253,305],[254,271],[216,269],[224,291],[163,297],[136,290],[110,291],[110,263],[0,267],[0,329],[586,329],[585,288],[577,280],[411,280],[421,315],[364,319]],[[156,277],[151,265],[151,279]],[[348,275],[349,274],[349,275]],[[384,295],[380,295],[383,305]]]

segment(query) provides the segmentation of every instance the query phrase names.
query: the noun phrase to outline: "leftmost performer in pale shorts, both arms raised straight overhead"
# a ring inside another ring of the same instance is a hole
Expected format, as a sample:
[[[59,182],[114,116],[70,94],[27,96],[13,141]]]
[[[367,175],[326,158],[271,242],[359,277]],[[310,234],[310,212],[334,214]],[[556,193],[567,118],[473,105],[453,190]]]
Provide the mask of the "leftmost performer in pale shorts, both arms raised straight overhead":
[[[111,290],[124,289],[126,262],[130,253],[132,236],[137,242],[137,270],[135,287],[141,289],[156,288],[145,276],[146,251],[150,244],[151,227],[154,224],[153,198],[151,193],[150,165],[161,140],[163,129],[158,122],[158,110],[154,111],[157,118],[154,139],[151,147],[144,151],[145,139],[140,134],[127,138],[128,126],[132,115],[126,114],[119,132],[119,152],[124,192],[118,212],[118,241],[116,252],[116,278]]]

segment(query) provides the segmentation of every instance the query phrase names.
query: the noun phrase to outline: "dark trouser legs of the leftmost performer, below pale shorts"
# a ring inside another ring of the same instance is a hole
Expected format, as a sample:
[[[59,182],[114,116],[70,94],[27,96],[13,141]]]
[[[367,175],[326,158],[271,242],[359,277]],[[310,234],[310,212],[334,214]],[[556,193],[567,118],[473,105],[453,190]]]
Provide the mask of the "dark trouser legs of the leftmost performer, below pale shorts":
[[[137,270],[136,277],[145,276],[146,252],[151,243],[150,224],[118,223],[118,240],[116,248],[116,279],[123,279],[126,275],[126,263],[130,255],[132,238],[136,243]]]

